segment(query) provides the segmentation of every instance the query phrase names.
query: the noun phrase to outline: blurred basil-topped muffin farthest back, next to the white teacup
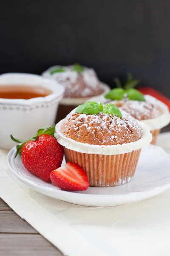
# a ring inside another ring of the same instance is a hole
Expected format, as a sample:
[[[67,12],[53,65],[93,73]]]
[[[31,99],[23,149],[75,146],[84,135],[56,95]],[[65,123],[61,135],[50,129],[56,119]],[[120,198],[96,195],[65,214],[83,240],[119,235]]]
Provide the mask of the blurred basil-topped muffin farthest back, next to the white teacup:
[[[92,68],[79,64],[71,66],[54,66],[42,73],[48,79],[54,79],[65,87],[64,97],[60,102],[57,121],[64,118],[79,104],[90,97],[105,95],[110,88],[99,81]]]

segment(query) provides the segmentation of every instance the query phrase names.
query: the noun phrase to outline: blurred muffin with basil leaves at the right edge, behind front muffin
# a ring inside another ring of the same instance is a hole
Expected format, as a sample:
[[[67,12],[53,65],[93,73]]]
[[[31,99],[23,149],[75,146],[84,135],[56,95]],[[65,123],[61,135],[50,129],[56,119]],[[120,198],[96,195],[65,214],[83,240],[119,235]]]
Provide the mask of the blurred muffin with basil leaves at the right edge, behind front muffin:
[[[142,95],[136,89],[124,90],[123,88],[115,88],[105,96],[96,96],[90,100],[104,104],[112,102],[121,110],[147,124],[153,135],[152,144],[156,143],[161,128],[170,122],[170,113],[167,105],[150,95]]]

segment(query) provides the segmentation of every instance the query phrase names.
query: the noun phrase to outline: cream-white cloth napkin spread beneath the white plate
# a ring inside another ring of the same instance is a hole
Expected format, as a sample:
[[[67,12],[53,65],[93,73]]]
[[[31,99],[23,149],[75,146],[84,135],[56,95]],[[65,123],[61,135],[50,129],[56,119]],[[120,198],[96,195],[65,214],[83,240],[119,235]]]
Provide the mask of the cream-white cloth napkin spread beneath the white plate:
[[[170,133],[157,145],[170,153]],[[82,207],[29,189],[0,150],[0,197],[67,256],[169,256],[170,190],[118,207]]]

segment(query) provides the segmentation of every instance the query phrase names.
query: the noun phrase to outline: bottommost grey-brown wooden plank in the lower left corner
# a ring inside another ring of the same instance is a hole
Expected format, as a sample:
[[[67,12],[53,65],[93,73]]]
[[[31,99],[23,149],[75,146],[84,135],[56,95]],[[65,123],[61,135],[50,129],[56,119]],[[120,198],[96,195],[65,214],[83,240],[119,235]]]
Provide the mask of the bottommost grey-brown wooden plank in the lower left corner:
[[[0,234],[0,256],[23,255],[63,256],[54,245],[39,234]]]

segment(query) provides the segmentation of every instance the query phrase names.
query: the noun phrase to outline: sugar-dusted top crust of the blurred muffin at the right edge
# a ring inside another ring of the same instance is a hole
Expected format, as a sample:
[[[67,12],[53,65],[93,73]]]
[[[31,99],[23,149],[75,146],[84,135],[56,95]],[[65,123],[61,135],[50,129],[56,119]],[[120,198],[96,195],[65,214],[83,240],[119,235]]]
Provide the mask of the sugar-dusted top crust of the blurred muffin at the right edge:
[[[122,99],[111,101],[120,110],[124,110],[138,120],[146,120],[161,116],[161,108],[158,101],[150,96],[144,96],[145,101]]]

